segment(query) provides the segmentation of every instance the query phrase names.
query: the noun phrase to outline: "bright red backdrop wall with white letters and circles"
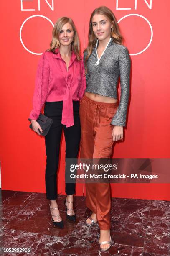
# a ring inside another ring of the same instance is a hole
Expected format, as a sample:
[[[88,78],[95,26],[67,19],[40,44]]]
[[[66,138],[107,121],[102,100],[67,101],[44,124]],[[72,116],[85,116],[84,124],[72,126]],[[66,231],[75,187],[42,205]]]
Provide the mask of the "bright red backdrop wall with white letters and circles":
[[[32,109],[38,53],[48,49],[51,23],[61,16],[73,18],[83,51],[89,17],[103,1],[2,0],[0,5],[2,189],[45,192],[45,142],[28,128],[27,120]],[[127,129],[124,141],[115,143],[114,157],[169,158],[170,34],[166,25],[170,1],[106,0],[104,5],[113,10],[119,21],[132,59]],[[120,95],[120,86],[118,91]],[[64,154],[63,138],[58,170],[58,193],[63,194]],[[76,191],[76,195],[85,195],[84,185],[77,184]],[[112,196],[170,200],[170,184],[112,184]]]

